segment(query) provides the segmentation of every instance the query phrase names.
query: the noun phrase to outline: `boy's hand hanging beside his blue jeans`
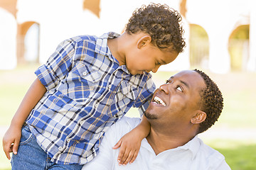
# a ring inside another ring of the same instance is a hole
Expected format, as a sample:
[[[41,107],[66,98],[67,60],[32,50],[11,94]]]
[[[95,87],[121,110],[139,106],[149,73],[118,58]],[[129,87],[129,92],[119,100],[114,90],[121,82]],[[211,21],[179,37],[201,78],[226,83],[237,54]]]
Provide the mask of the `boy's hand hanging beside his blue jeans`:
[[[18,153],[18,144],[21,140],[21,129],[9,128],[3,137],[4,153],[8,159],[11,159],[10,152]]]

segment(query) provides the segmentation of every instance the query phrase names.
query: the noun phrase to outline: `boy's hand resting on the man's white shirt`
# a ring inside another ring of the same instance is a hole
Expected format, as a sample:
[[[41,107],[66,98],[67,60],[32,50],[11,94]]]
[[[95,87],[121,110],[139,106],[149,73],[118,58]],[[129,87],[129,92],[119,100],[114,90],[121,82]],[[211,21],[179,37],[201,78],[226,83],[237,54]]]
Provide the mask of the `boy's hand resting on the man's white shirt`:
[[[117,162],[119,165],[126,165],[128,162],[132,164],[134,160],[137,158],[139,153],[139,148],[142,143],[142,138],[137,135],[137,132],[132,130],[124,135],[116,145],[114,145],[113,149],[117,149],[120,147],[119,154],[117,157]]]

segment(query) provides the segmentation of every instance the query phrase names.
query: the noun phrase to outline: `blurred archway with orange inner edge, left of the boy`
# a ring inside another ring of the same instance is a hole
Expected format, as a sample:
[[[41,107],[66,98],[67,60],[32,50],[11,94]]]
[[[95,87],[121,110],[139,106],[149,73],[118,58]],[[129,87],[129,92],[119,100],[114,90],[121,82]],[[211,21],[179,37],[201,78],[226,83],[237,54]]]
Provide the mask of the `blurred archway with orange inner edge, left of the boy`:
[[[18,64],[39,60],[39,31],[40,26],[34,21],[18,25],[17,58]]]

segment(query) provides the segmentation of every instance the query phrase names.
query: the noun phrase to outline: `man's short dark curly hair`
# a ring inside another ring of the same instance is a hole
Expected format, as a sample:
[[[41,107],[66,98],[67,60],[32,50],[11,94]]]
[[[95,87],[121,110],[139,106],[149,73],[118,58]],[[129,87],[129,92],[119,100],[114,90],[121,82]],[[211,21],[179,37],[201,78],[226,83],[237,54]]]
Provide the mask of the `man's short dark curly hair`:
[[[223,110],[223,96],[218,86],[204,72],[194,69],[203,78],[206,88],[202,89],[201,95],[201,111],[206,113],[206,120],[200,123],[198,133],[208,130],[220,117]]]

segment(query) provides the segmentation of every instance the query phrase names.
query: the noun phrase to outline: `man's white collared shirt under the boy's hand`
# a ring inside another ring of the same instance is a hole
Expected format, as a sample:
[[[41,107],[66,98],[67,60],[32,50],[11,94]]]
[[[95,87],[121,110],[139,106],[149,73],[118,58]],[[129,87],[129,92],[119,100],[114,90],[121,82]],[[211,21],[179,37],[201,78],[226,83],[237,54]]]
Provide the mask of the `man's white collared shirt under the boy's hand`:
[[[146,139],[142,140],[137,159],[126,166],[119,165],[117,156],[119,149],[112,149],[119,139],[135,128],[141,119],[124,117],[112,125],[100,145],[100,153],[82,170],[94,169],[139,169],[139,170],[230,170],[225,157],[215,149],[205,145],[197,136],[181,147],[169,149],[156,155]]]

